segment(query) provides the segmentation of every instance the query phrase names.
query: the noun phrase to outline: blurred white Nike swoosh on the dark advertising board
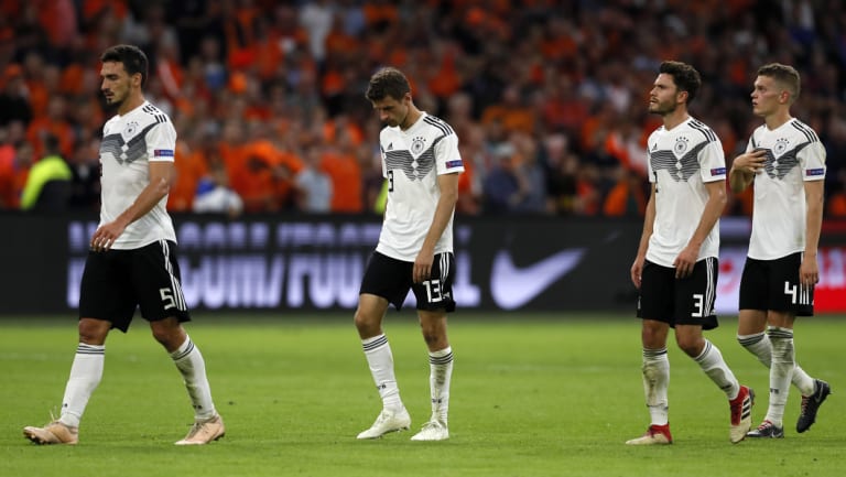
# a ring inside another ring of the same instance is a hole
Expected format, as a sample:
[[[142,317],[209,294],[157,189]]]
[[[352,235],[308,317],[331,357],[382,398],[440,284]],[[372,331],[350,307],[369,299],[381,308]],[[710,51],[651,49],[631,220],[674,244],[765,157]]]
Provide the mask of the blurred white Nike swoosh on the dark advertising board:
[[[573,270],[584,254],[584,248],[567,249],[531,265],[517,268],[508,250],[500,250],[494,257],[490,271],[494,302],[503,310],[523,306]]]

